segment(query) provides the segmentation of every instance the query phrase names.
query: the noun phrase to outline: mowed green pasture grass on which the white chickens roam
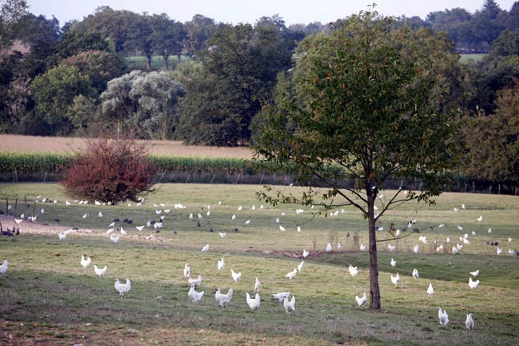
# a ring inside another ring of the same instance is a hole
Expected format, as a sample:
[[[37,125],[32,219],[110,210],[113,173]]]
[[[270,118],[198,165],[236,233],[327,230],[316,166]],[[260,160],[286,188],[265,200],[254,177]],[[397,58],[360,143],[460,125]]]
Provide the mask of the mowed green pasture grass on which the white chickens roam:
[[[23,221],[21,235],[0,237],[0,261],[9,261],[7,273],[0,277],[0,342],[516,345],[519,340],[519,256],[509,255],[510,249],[519,250],[517,197],[446,193],[437,197],[435,206],[409,202],[389,210],[380,227],[394,224],[404,230],[415,220],[411,228],[418,232],[405,230],[404,235],[411,235],[379,242],[382,309],[370,311],[355,301],[355,295],[369,294],[369,257],[359,251],[360,244],[367,246],[367,221],[355,208],[332,210],[337,212],[334,216],[330,212],[319,215],[318,206],[274,208],[263,203],[261,208],[262,202],[255,198],[260,185],[165,184],[156,188],[141,206],[95,206],[72,201],[57,184],[1,184],[4,212],[6,199],[12,208],[18,199],[17,217],[34,209],[39,224],[57,228],[32,233],[28,221]],[[288,186],[279,189],[296,195],[303,191]],[[395,191],[381,193],[390,197]],[[35,205],[37,196],[40,202]],[[28,200],[25,208],[24,197]],[[44,197],[57,203],[41,203]],[[67,200],[71,206],[66,206]],[[377,203],[379,210],[383,203],[384,199]],[[303,212],[297,213],[298,208]],[[165,215],[160,233],[154,228],[135,228],[159,221],[157,210]],[[106,235],[116,217],[133,221],[116,225],[127,233],[117,244]],[[13,224],[12,220],[2,222],[4,229]],[[446,227],[439,228],[440,224]],[[57,229],[72,227],[77,231],[60,242]],[[392,238],[384,230],[378,234],[381,241]],[[465,234],[470,244],[454,255],[453,244],[461,244]],[[426,237],[426,244],[419,242],[420,236]],[[498,246],[485,241],[498,242]],[[331,253],[325,251],[329,242]],[[337,251],[339,243],[341,251]],[[395,252],[388,250],[388,243],[397,246]],[[206,244],[207,253],[201,251]],[[413,251],[416,244],[418,253]],[[437,251],[441,245],[443,249]],[[502,248],[500,255],[497,248]],[[310,255],[302,271],[289,280],[285,275],[303,260],[303,249]],[[82,255],[92,259],[86,270],[79,264]],[[226,266],[220,273],[217,262],[222,257]],[[394,268],[392,258],[397,261]],[[200,304],[192,304],[187,296],[189,284],[182,274],[187,262],[193,277],[202,276],[197,291],[205,295]],[[106,265],[106,275],[97,277],[93,264]],[[358,266],[359,275],[350,275],[349,264]],[[232,280],[231,268],[242,273],[238,282]],[[418,279],[411,275],[413,268],[419,271]],[[470,289],[469,272],[477,269],[480,274],[473,279],[479,279],[480,285]],[[390,275],[397,272],[401,280],[395,287]],[[261,306],[252,312],[245,292],[254,295],[256,277],[263,284]],[[115,291],[116,278],[131,280],[131,291],[124,298]],[[431,297],[426,295],[429,283],[435,289]],[[216,287],[224,293],[234,290],[225,309],[216,307]],[[296,296],[296,316],[287,316],[283,305],[270,299],[270,294],[282,291]],[[449,313],[447,327],[438,323],[437,307]],[[467,313],[474,314],[473,331],[464,326]]]

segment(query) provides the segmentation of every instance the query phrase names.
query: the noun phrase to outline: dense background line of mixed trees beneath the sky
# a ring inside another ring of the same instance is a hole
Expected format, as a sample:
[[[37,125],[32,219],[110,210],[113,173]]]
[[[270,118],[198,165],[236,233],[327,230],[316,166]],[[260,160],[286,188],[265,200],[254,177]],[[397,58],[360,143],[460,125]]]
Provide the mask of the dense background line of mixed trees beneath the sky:
[[[286,26],[278,15],[253,24],[223,24],[203,15],[181,23],[167,15],[100,7],[59,26],[29,12],[23,0],[0,0],[0,132],[95,136],[135,131],[149,139],[205,145],[247,145],[261,122],[261,102],[298,93],[298,57],[333,26]],[[347,15],[347,14],[345,14]],[[339,23],[341,19],[337,19]],[[396,17],[442,68],[445,102],[464,110],[460,139],[472,159],[471,179],[518,183],[519,1],[493,0],[471,14],[462,8],[426,19]],[[21,42],[27,52],[14,50]],[[460,53],[485,53],[462,61]],[[131,69],[126,57],[144,57]],[[153,71],[160,57],[163,69]]]

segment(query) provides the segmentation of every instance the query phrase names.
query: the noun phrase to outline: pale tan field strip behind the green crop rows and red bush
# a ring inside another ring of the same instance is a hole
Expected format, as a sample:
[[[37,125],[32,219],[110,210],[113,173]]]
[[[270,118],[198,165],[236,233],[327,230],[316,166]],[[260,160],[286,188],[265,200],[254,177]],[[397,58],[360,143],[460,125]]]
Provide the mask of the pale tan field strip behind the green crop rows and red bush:
[[[183,145],[178,140],[147,140],[151,153],[169,156],[204,156],[210,158],[231,157],[251,158],[252,152],[247,147],[205,147]],[[84,144],[83,138],[39,137],[0,134],[0,150],[3,152],[68,152]]]

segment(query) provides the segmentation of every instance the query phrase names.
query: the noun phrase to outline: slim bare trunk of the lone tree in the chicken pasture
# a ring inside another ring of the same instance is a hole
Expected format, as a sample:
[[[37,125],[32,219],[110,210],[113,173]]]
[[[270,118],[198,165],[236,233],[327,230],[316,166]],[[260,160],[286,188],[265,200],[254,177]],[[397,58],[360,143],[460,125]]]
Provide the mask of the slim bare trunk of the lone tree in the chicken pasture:
[[[377,233],[375,231],[375,197],[377,191],[368,194],[368,227],[370,242],[370,309],[380,310],[379,264],[377,260]]]

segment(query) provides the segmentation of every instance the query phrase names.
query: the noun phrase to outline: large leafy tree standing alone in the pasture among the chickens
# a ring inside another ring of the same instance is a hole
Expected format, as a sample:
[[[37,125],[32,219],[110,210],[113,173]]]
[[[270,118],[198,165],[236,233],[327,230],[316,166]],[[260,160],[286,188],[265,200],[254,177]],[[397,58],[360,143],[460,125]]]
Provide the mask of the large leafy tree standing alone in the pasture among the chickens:
[[[361,12],[332,35],[302,42],[298,98],[265,102],[254,125],[256,160],[308,188],[294,195],[266,187],[258,198],[325,210],[355,206],[368,220],[372,309],[381,307],[377,243],[402,237],[377,238],[377,223],[406,201],[433,203],[461,155],[454,140],[459,111],[439,107],[442,65],[422,54],[421,42],[408,41],[405,26],[388,31],[387,20]],[[390,178],[402,186],[375,215]]]

